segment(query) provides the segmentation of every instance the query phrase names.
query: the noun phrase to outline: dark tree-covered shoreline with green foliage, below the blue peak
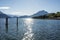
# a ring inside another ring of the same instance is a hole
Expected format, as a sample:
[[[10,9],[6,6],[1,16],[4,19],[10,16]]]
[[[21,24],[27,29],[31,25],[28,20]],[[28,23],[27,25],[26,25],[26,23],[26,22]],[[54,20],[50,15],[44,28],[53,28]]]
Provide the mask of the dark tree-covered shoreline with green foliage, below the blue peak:
[[[40,16],[34,16],[32,18],[35,18],[35,19],[57,19],[57,20],[60,20],[60,12],[48,13],[48,14],[44,14],[44,15],[40,15]]]

